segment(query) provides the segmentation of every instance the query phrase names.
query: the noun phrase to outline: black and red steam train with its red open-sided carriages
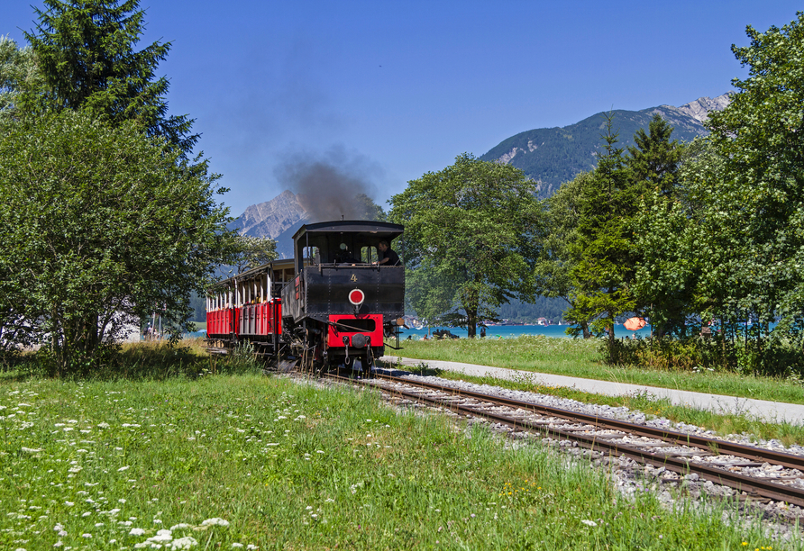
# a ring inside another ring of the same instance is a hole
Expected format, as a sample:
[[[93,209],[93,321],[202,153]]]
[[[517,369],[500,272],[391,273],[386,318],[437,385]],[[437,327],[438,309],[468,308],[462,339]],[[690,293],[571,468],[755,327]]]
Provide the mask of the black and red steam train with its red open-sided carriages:
[[[293,236],[294,257],[221,281],[206,299],[207,351],[247,346],[270,366],[322,372],[360,360],[368,372],[404,324],[405,269],[380,265],[379,221],[325,221]]]

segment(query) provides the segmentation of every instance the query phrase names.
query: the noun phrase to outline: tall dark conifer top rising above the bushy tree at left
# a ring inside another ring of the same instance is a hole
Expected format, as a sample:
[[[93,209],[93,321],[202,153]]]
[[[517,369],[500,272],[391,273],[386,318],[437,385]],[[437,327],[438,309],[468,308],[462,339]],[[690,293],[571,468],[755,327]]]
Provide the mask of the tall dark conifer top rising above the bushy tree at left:
[[[197,134],[192,120],[168,116],[169,81],[156,77],[170,43],[134,47],[145,27],[139,0],[43,0],[34,8],[36,32],[25,33],[46,83],[27,95],[26,108],[85,108],[113,125],[136,121],[148,136],[162,136],[185,154]]]

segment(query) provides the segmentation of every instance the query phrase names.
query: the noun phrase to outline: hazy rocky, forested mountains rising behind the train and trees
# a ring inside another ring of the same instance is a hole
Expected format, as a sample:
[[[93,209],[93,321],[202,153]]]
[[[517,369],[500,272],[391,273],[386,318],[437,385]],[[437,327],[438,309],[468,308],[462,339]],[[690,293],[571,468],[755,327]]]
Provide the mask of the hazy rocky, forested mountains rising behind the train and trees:
[[[613,128],[619,132],[619,146],[634,145],[634,133],[647,130],[653,113],[659,113],[673,127],[672,139],[691,141],[707,133],[703,122],[708,113],[720,111],[729,104],[731,94],[716,98],[701,97],[681,107],[660,105],[642,111],[617,110],[597,113],[562,128],[539,128],[524,131],[501,141],[481,156],[483,160],[499,160],[521,168],[526,176],[538,182],[539,196],[549,197],[563,182],[584,170],[595,167],[597,154],[604,143],[607,114],[613,116]],[[291,257],[291,238],[300,224],[312,221],[314,214],[300,197],[285,190],[270,201],[252,204],[229,228],[245,235],[277,240],[280,257]]]

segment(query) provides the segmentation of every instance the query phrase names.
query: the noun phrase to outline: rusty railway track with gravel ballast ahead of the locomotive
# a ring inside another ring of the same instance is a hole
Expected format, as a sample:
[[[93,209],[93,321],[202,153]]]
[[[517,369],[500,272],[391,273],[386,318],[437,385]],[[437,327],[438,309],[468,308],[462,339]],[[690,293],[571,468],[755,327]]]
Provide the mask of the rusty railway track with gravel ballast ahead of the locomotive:
[[[641,465],[664,468],[745,492],[749,499],[782,501],[804,508],[804,456],[745,446],[668,429],[562,410],[533,402],[476,393],[394,375],[354,380],[384,392],[454,413],[484,418],[514,430],[568,440],[607,456],[627,456]]]

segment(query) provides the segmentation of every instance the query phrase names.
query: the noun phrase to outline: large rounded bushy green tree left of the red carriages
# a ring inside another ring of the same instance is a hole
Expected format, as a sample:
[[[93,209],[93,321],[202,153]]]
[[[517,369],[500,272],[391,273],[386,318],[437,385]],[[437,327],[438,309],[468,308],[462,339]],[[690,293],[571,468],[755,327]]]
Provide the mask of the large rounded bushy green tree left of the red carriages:
[[[231,260],[225,190],[206,162],[87,113],[0,122],[0,305],[60,370],[154,309],[187,329],[190,292]],[[24,329],[23,329],[24,328]]]

